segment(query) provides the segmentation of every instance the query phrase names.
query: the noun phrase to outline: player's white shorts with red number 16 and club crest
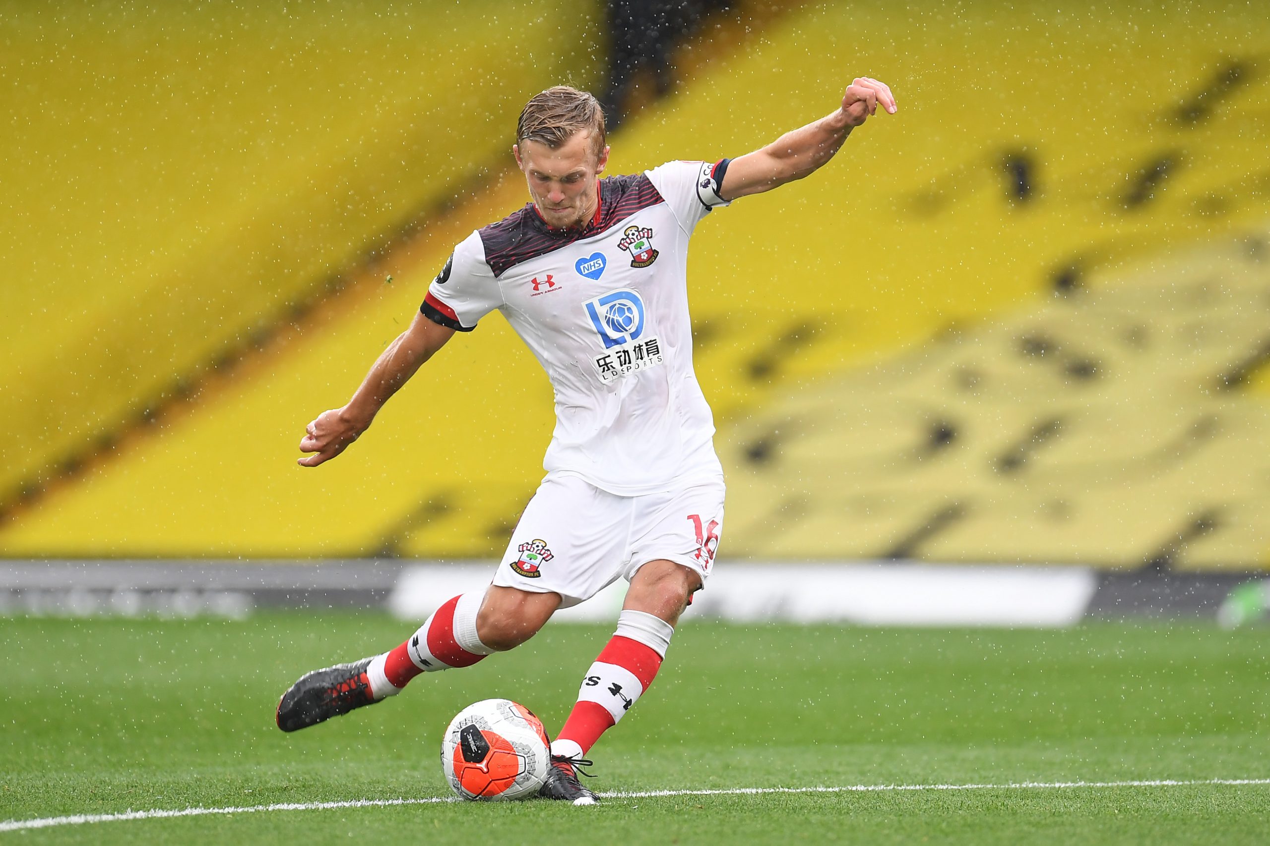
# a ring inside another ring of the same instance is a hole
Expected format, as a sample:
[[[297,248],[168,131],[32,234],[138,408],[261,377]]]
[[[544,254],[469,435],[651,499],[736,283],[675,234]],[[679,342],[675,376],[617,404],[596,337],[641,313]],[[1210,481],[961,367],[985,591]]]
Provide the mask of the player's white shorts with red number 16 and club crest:
[[[591,599],[650,561],[696,571],[705,585],[723,530],[723,477],[663,493],[617,496],[570,473],[547,473],[494,573],[494,583]]]

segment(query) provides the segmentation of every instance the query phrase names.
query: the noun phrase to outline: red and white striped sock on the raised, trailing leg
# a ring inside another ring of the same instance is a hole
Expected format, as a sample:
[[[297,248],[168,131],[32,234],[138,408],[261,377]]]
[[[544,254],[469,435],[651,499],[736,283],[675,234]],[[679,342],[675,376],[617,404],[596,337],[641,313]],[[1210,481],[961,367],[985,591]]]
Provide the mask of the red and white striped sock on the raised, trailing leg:
[[[455,596],[432,613],[409,641],[375,656],[366,675],[376,699],[395,696],[420,672],[470,667],[493,652],[476,637],[484,592]]]

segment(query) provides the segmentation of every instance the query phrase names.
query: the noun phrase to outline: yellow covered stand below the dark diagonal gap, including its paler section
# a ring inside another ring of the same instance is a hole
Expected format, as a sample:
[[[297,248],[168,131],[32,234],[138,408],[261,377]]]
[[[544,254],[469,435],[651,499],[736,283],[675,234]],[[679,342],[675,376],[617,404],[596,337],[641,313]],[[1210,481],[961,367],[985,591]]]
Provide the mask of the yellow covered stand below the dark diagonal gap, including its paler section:
[[[1113,317],[1173,326],[1182,269],[1212,265],[1238,296],[1261,284],[1229,233],[1270,218],[1270,86],[1256,60],[1270,33],[1233,5],[933,9],[792,14],[613,138],[625,172],[752,150],[829,112],[853,74],[899,98],[898,115],[871,120],[815,176],[698,228],[690,289],[730,472],[725,554],[1264,562],[1251,467],[1218,516],[1206,509],[1222,504],[1184,495],[1203,462],[1229,469],[1264,433],[1260,406],[1241,398],[1255,393],[1187,406],[1195,379],[1250,341],[1184,356],[1179,339],[1138,360]],[[47,497],[0,548],[499,552],[551,427],[550,388],[500,320],[451,344],[337,462],[290,460],[302,425],[343,402],[410,318],[452,242],[522,198],[512,172],[464,203],[391,256],[391,285],[362,282],[268,370]],[[1052,301],[1055,288],[1068,297]],[[1238,296],[1223,308],[1247,308]],[[1021,355],[1033,327],[1060,351],[1041,339]],[[1208,435],[1205,415],[1243,440]],[[1151,449],[1194,454],[1157,473]],[[1170,547],[1171,533],[1186,537]]]

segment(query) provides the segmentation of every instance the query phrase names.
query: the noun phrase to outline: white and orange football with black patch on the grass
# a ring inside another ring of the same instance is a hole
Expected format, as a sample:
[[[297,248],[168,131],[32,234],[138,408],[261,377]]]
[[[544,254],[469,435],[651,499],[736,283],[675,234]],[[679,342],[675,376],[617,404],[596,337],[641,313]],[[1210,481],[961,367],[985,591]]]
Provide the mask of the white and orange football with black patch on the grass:
[[[509,699],[485,699],[462,709],[441,741],[441,767],[461,799],[528,799],[542,786],[549,766],[542,722]]]

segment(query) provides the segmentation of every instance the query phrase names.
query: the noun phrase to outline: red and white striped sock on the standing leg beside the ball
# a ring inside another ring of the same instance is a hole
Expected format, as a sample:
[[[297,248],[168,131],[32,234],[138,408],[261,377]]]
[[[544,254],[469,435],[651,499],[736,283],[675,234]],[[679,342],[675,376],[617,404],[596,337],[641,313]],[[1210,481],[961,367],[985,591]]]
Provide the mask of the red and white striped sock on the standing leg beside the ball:
[[[582,680],[578,703],[551,743],[551,753],[584,756],[653,684],[672,634],[674,627],[660,618],[622,611],[608,646]]]

